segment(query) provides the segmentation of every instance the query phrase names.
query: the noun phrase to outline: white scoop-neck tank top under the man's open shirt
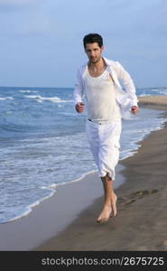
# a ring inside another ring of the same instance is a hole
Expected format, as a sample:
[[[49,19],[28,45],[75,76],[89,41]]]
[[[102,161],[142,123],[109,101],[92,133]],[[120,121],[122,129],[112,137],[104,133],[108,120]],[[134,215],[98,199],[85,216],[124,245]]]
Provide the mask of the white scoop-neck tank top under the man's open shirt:
[[[107,69],[100,76],[92,77],[87,66],[84,85],[88,119],[97,123],[120,121],[116,90]]]

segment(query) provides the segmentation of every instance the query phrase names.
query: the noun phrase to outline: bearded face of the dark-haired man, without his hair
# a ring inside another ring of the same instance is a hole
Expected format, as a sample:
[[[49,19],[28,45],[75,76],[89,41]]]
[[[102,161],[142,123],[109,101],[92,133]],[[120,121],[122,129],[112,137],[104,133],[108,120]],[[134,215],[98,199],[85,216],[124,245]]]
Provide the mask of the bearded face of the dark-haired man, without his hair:
[[[103,49],[104,46],[100,48],[97,42],[86,43],[85,52],[88,56],[88,60],[93,64],[97,63],[101,59],[101,53]]]

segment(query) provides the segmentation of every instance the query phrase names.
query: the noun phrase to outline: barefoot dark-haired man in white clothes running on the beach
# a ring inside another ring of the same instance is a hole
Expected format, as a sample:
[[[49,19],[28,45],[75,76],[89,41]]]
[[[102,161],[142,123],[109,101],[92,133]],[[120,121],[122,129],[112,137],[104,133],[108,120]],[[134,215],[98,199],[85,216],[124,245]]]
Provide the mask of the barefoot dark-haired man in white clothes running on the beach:
[[[127,71],[119,62],[102,57],[103,38],[97,33],[89,33],[84,37],[83,45],[88,63],[78,70],[74,101],[77,112],[82,113],[83,97],[86,98],[88,142],[104,187],[104,206],[97,222],[104,223],[109,217],[116,216],[113,182],[119,159],[122,112],[129,107],[136,114],[138,100]],[[122,80],[124,90],[118,79]]]

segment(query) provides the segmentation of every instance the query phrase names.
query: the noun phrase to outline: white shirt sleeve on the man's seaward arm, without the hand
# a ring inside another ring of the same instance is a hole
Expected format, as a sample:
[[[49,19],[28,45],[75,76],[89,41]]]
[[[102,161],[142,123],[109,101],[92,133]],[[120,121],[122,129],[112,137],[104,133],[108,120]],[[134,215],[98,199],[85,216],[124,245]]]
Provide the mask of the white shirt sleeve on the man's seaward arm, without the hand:
[[[75,83],[75,88],[73,92],[73,100],[74,104],[78,104],[79,102],[82,102],[83,98],[83,82],[80,74],[80,70],[77,72],[77,80]]]

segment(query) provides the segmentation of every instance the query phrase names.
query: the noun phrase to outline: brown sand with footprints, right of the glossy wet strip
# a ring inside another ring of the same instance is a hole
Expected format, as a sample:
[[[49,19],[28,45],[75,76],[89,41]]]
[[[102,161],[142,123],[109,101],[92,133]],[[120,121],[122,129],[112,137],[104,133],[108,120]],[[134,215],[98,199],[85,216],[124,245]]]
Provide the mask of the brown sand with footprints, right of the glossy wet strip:
[[[167,112],[163,117],[167,117]],[[121,171],[125,182],[116,189],[118,215],[115,218],[97,225],[95,219],[103,204],[103,198],[98,198],[60,235],[33,250],[166,251],[166,133],[167,123],[139,142],[141,146],[135,155],[119,163],[125,166]]]

